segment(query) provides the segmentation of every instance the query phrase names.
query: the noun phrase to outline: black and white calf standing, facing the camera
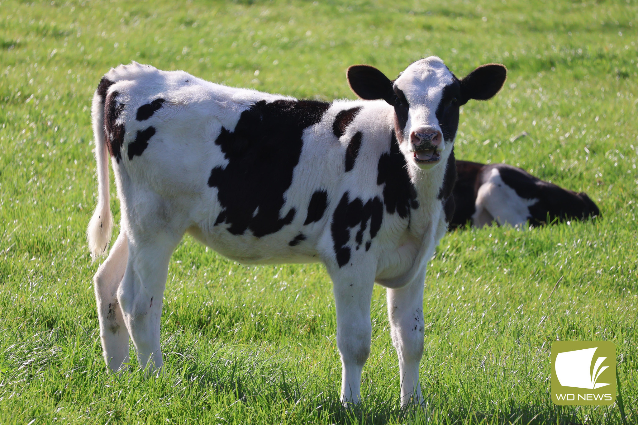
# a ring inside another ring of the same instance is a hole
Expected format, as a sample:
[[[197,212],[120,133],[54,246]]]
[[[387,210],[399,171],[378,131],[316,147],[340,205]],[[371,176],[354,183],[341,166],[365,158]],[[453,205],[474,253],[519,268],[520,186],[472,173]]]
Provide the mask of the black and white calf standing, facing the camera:
[[[504,66],[459,80],[438,57],[390,81],[348,69],[361,100],[325,103],[235,89],[137,63],[111,69],[93,97],[98,205],[94,256],[112,229],[108,155],[121,232],[94,282],[105,360],[162,365],[168,259],[188,232],[242,263],[325,264],[334,282],[341,400],[359,401],[374,283],[387,303],[401,404],[420,402],[427,260],[454,211],[459,106],[501,89]]]

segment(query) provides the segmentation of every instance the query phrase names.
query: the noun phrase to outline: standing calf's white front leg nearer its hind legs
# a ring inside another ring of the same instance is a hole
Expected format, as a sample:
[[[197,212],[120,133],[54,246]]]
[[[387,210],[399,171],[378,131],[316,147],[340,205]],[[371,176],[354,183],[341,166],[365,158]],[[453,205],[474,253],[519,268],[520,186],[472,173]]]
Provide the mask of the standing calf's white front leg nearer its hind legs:
[[[373,266],[347,264],[330,273],[337,310],[337,347],[341,354],[341,402],[346,407],[360,401],[361,372],[370,355],[374,270]]]

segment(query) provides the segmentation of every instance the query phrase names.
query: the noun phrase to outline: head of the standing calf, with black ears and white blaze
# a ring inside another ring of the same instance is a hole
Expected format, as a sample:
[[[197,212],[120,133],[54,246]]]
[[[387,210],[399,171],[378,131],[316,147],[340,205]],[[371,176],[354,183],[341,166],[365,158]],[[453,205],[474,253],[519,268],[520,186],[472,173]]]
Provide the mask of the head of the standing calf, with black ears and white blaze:
[[[427,169],[446,162],[459,126],[459,106],[487,100],[503,87],[507,69],[487,64],[459,80],[436,56],[414,62],[390,81],[369,65],[348,68],[348,83],[362,99],[394,106],[394,127],[408,164]]]

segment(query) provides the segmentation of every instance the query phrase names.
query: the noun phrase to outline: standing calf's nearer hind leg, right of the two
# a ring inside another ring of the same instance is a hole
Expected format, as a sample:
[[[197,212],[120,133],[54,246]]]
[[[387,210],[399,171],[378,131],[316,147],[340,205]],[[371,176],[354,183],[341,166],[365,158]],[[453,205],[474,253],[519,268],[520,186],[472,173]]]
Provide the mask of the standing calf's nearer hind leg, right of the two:
[[[168,260],[180,239],[181,236],[155,234],[152,237],[138,237],[135,242],[129,243],[126,273],[117,292],[117,299],[133,340],[140,368],[147,368],[147,371],[162,366],[159,319]]]

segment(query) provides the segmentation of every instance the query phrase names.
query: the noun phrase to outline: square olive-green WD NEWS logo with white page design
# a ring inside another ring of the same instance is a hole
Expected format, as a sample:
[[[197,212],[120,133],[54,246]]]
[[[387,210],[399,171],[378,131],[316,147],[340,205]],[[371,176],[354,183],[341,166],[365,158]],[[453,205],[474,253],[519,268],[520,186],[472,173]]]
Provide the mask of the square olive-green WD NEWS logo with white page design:
[[[552,401],[609,406],[616,401],[616,346],[609,341],[552,344]]]

